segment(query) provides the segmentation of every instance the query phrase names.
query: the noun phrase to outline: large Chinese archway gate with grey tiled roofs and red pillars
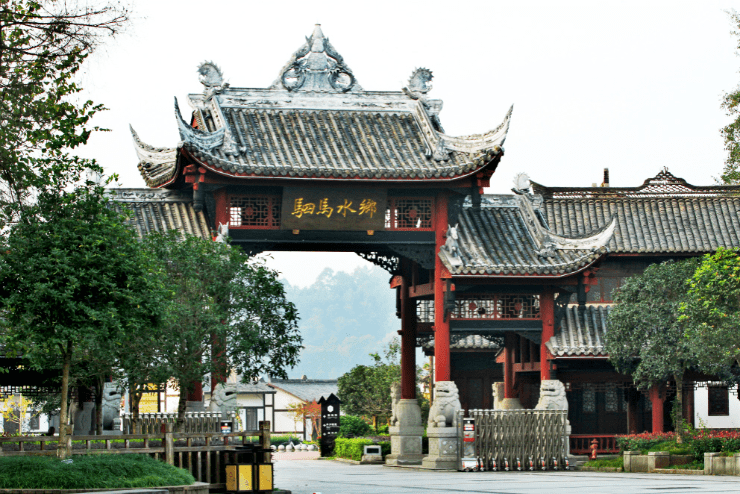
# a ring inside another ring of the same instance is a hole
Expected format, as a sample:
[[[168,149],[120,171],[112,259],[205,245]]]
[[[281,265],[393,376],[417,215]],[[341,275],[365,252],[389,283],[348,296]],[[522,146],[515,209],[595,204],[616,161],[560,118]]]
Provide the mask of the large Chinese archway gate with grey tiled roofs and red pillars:
[[[551,377],[544,342],[558,303],[583,292],[613,224],[571,239],[544,225],[526,190],[483,196],[511,110],[490,132],[447,135],[430,71],[417,69],[400,91],[365,91],[319,26],[269,88],[230,87],[212,63],[199,73],[192,114],[175,102],[176,148],[149,146],[132,129],[151,189],[118,200],[143,231],[210,230],[250,253],[348,251],[380,265],[398,298],[402,401],[416,397],[419,341],[434,342],[435,381],[452,380],[451,334],[505,339],[507,399],[517,365]],[[529,360],[517,363],[523,346]]]

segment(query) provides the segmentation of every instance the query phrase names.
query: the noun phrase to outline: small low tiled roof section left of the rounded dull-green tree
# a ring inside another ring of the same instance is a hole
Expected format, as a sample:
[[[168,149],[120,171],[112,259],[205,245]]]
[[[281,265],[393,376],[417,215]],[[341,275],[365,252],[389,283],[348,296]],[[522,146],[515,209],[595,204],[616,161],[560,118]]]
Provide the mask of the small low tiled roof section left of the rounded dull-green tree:
[[[587,305],[583,315],[578,306],[570,305],[555,330],[555,336],[545,343],[555,357],[606,357],[604,335],[606,318],[611,306]]]

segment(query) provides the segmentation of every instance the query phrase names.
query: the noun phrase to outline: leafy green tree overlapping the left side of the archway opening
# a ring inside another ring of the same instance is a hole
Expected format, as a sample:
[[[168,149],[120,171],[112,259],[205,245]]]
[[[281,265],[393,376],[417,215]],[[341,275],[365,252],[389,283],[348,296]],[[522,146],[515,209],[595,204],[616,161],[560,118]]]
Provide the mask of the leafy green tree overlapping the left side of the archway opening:
[[[298,362],[298,312],[285,298],[278,273],[238,247],[177,233],[149,235],[145,248],[159,259],[170,293],[158,334],[161,362],[180,388],[178,427],[187,394],[206,374],[245,382],[262,374],[287,378]]]

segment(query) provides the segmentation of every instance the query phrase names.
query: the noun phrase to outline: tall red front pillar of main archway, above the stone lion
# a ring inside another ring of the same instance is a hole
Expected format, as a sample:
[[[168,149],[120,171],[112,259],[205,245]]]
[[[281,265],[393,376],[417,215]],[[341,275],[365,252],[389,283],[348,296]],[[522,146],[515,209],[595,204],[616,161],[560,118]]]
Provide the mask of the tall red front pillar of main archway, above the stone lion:
[[[443,272],[447,270],[439,258],[439,249],[447,234],[447,194],[441,193],[434,203],[434,365],[435,382],[451,381],[450,322],[445,320]]]

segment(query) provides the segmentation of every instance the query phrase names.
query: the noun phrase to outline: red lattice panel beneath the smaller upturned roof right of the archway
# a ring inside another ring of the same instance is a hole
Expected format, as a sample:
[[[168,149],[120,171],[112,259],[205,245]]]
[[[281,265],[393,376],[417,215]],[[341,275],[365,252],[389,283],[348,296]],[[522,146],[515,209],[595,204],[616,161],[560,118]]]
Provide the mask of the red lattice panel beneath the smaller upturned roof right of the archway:
[[[540,319],[539,295],[466,295],[455,300],[455,319]]]

